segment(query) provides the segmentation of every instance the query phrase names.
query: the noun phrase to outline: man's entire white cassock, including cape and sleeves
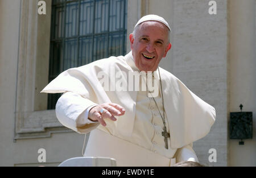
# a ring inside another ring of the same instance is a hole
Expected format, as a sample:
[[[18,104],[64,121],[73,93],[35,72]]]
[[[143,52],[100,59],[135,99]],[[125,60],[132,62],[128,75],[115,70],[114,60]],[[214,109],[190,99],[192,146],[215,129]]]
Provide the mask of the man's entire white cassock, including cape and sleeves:
[[[192,143],[209,133],[215,121],[215,109],[170,72],[159,69],[167,132],[170,133],[168,149],[164,147],[163,121],[159,114],[159,110],[163,113],[160,89],[155,97],[158,110],[146,91],[106,90],[102,86],[99,73],[108,75],[109,88],[114,88],[113,71],[122,71],[127,76],[129,72],[138,71],[131,52],[68,69],[42,92],[65,92],[56,104],[56,116],[64,126],[78,133],[90,132],[85,156],[114,158],[118,166],[170,166],[183,160],[198,162]],[[159,74],[154,73],[154,77],[158,80]],[[128,78],[123,79],[127,84]],[[142,82],[139,80],[139,85]],[[106,119],[106,127],[88,119],[86,109],[109,102],[123,106],[125,114],[115,122]]]

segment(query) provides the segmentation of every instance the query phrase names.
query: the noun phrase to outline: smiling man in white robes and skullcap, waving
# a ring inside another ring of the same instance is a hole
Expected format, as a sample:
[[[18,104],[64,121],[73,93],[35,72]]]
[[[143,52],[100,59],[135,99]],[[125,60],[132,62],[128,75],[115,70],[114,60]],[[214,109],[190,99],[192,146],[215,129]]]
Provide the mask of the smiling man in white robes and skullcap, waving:
[[[118,166],[199,162],[192,143],[209,133],[216,113],[158,67],[171,48],[170,32],[162,17],[143,16],[129,36],[126,56],[68,69],[42,90],[64,93],[56,104],[64,126],[90,132],[85,156],[114,158]],[[139,80],[131,80],[134,76]]]

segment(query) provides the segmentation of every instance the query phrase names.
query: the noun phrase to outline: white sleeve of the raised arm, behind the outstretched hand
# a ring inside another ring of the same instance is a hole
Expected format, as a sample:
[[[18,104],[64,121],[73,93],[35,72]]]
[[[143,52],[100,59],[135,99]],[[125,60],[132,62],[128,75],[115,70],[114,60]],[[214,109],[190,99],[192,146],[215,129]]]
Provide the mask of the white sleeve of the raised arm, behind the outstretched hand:
[[[56,117],[65,127],[78,133],[88,133],[99,124],[88,119],[89,110],[96,105],[80,94],[66,92],[57,101]]]

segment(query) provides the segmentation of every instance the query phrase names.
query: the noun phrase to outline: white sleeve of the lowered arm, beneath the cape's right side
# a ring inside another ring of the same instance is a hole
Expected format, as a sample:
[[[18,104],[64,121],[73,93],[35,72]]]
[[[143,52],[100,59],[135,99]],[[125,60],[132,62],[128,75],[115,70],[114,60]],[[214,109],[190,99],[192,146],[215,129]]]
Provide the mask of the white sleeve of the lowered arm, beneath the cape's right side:
[[[186,146],[183,146],[179,149],[177,149],[176,152],[176,163],[179,162],[197,162],[199,163],[199,160],[196,156],[195,151],[193,150],[193,143],[188,144]]]

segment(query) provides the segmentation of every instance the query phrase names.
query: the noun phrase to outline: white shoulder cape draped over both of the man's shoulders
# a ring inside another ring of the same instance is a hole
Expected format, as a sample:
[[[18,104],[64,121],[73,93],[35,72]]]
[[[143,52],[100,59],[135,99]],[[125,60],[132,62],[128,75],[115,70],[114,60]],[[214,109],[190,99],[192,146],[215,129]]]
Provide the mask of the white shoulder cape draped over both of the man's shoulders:
[[[133,56],[130,52],[126,56],[109,57],[79,68],[68,69],[51,81],[42,92],[76,92],[96,104],[113,102],[125,107],[125,115],[118,117],[114,122],[116,126],[114,135],[128,138],[133,132],[137,92],[105,91],[100,84],[102,76],[98,78],[97,75],[99,72],[104,72],[109,76],[111,70],[114,69],[115,72],[122,71],[128,76],[128,72],[133,71],[128,65],[132,60]],[[209,133],[215,121],[214,107],[193,94],[170,72],[160,68],[160,76],[171,135],[171,148],[180,148],[203,138]],[[109,81],[110,85],[115,85],[113,80]]]

